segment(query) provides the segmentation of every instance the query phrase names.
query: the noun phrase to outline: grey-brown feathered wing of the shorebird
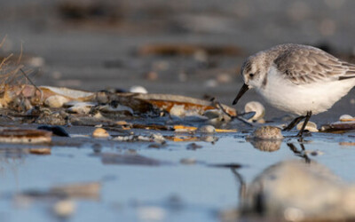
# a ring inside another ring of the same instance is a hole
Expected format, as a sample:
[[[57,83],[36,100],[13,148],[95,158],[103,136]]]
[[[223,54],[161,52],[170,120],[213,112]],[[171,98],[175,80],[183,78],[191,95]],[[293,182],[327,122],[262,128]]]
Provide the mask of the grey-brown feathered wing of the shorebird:
[[[311,46],[288,48],[273,62],[295,84],[355,78],[355,65]]]

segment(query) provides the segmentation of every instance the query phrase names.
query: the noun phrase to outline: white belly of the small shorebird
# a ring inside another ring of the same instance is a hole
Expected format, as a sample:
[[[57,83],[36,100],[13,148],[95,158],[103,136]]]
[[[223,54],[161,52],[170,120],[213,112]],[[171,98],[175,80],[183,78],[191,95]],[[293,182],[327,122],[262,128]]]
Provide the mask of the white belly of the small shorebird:
[[[269,75],[268,82],[258,92],[273,107],[296,115],[307,111],[319,114],[327,111],[354,86],[354,79],[296,85]]]

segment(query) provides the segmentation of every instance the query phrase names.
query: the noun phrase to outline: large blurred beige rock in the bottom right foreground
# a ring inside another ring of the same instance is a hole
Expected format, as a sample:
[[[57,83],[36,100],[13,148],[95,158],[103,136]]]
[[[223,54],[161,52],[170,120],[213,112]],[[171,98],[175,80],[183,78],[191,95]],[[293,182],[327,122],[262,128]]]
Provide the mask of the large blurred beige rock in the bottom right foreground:
[[[289,221],[338,221],[355,218],[355,185],[327,167],[293,160],[272,165],[247,186],[241,217]]]

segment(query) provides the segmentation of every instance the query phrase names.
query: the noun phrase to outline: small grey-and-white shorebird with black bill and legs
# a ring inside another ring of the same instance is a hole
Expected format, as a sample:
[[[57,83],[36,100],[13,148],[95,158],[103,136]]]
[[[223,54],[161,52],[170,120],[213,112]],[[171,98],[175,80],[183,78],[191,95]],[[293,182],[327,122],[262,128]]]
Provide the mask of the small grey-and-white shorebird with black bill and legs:
[[[302,137],[312,114],[327,111],[355,85],[355,65],[318,48],[280,44],[250,56],[241,67],[244,84],[233,105],[255,88],[273,107],[300,115],[285,127],[304,120]]]

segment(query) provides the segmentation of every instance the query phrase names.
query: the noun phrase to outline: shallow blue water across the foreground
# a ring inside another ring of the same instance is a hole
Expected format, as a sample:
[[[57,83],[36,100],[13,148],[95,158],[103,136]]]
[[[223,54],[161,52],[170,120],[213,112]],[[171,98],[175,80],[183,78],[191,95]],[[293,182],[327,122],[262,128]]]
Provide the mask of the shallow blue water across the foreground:
[[[279,150],[263,152],[246,142],[241,134],[218,136],[215,144],[196,142],[201,147],[195,150],[186,148],[191,142],[171,141],[158,149],[148,148],[150,143],[146,142],[117,142],[104,145],[96,152],[89,143],[80,148],[54,146],[51,155],[11,155],[9,149],[1,148],[0,219],[217,221],[218,212],[238,207],[241,184],[230,168],[213,164],[241,164],[236,170],[248,186],[257,174],[272,164],[301,158],[287,145],[293,143],[301,150],[296,139],[284,139]],[[309,155],[312,161],[323,163],[346,181],[355,180],[349,170],[355,168],[351,158],[354,147],[339,145],[339,141],[351,141],[350,137],[314,133],[306,139],[305,150],[320,154]],[[139,160],[132,164],[107,163],[102,157],[135,152],[158,164],[144,165]],[[183,158],[193,158],[195,163],[180,163]],[[30,202],[16,198],[16,194],[30,190],[43,192],[52,186],[77,182],[99,182],[102,186],[96,200],[74,198],[75,212],[68,218],[55,216],[51,210],[55,200],[51,198],[32,198]]]

